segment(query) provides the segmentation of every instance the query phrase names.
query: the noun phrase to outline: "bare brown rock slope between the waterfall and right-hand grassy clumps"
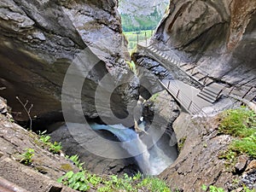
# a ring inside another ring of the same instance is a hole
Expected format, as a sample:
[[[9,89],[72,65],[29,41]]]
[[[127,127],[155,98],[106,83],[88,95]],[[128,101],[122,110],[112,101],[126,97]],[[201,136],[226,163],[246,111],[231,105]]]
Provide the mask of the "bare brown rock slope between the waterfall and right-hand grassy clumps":
[[[242,183],[253,188],[255,169],[245,172],[247,161],[253,163],[252,160],[240,156],[238,163],[241,172],[234,174],[231,170],[236,166],[227,166],[225,160],[219,158],[233,138],[218,134],[217,117],[191,119],[189,114],[181,113],[174,122],[173,129],[180,154],[174,164],[160,174],[162,179],[173,186],[173,190],[199,191],[205,184],[231,191],[239,189]]]

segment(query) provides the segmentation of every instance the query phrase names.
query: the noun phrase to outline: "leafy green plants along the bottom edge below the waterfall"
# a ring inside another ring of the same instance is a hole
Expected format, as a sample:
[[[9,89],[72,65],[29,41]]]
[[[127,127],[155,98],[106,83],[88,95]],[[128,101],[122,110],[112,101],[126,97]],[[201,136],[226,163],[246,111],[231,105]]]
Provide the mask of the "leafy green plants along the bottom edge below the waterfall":
[[[66,156],[67,157],[67,156]],[[57,182],[67,185],[72,189],[87,191],[90,188],[96,188],[98,192],[137,192],[139,189],[152,192],[171,192],[166,183],[156,177],[143,177],[138,172],[135,176],[129,177],[124,174],[123,177],[116,175],[99,177],[96,174],[90,174],[82,168],[78,155],[67,157],[73,160],[74,164],[79,167],[80,172],[69,171],[60,177]]]

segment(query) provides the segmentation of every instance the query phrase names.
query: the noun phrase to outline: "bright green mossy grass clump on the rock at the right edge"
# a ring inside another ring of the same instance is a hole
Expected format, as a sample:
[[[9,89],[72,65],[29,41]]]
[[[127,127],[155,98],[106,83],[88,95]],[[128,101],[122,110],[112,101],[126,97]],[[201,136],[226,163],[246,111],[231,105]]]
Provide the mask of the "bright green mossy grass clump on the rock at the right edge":
[[[256,113],[247,108],[230,109],[221,116],[219,131],[237,137],[220,158],[231,160],[239,154],[256,158]]]

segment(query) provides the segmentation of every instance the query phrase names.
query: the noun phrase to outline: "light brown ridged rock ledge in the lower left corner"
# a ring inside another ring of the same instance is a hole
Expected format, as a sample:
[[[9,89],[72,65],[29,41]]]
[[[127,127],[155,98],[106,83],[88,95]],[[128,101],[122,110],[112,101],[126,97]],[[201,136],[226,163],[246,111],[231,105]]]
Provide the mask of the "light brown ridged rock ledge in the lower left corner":
[[[0,103],[3,104],[1,99]],[[5,179],[12,186],[18,186],[19,191],[74,191],[56,183],[56,180],[70,170],[79,172],[78,167],[63,154],[51,154],[44,149],[38,135],[12,123],[7,114],[0,114],[0,145],[1,182]],[[34,149],[29,166],[20,163],[21,154],[26,153],[27,148]]]

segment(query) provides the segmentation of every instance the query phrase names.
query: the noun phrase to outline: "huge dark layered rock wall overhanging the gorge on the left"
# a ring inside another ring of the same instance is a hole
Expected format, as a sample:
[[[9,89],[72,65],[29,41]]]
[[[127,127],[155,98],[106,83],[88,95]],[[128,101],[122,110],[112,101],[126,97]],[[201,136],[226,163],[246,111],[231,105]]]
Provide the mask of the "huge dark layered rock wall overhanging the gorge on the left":
[[[0,33],[0,94],[9,100],[16,119],[27,117],[15,96],[33,104],[32,116],[61,112],[67,67],[84,49],[97,62],[84,81],[85,116],[97,116],[95,90],[106,74],[114,85],[128,82],[113,93],[112,101],[119,101],[111,106],[117,115],[127,115],[128,103],[137,98],[137,79],[125,63],[129,55],[116,0],[3,0]],[[73,97],[68,102],[76,108]]]

